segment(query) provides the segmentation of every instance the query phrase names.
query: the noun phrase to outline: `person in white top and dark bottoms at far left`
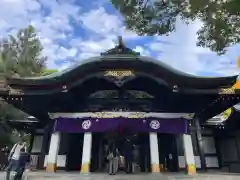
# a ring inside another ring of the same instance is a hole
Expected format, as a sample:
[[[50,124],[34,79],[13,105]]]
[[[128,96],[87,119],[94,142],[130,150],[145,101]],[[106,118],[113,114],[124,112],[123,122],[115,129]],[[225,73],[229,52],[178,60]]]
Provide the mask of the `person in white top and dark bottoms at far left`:
[[[8,167],[6,168],[6,180],[9,180],[11,171],[17,170],[22,148],[26,151],[26,144],[20,139],[11,149],[8,156]]]

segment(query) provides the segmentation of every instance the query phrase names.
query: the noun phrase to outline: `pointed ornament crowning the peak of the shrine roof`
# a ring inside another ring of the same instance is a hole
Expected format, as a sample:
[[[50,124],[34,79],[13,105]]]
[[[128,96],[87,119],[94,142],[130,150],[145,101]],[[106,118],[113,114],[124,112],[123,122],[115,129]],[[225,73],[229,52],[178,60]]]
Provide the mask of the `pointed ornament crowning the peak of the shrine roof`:
[[[101,56],[109,56],[109,55],[134,55],[140,56],[139,52],[133,51],[132,49],[125,46],[123,42],[122,36],[118,36],[118,44],[112,48],[107,50],[106,52],[102,52]]]

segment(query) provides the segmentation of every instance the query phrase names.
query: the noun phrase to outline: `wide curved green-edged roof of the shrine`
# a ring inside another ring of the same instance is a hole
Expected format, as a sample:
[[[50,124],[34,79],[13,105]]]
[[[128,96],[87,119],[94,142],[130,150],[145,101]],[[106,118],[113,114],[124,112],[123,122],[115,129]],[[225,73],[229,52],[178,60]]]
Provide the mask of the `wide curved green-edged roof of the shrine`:
[[[104,68],[102,68],[104,67]],[[139,53],[123,46],[118,45],[100,56],[81,60],[77,64],[47,76],[11,78],[8,83],[15,85],[46,85],[71,81],[71,77],[81,74],[85,76],[93,71],[103,69],[119,68],[141,71],[145,74],[152,74],[153,77],[162,78],[171,82],[171,85],[180,85],[198,88],[219,88],[229,87],[236,82],[237,76],[229,77],[203,77],[191,75],[179,71],[170,65],[151,57],[140,56]],[[122,68],[121,68],[122,67]]]

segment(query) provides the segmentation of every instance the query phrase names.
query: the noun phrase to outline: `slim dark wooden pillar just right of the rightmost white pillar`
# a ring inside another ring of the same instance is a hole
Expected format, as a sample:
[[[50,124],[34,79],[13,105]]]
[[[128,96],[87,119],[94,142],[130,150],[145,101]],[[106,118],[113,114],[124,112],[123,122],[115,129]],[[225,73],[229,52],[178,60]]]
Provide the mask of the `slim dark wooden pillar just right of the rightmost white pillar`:
[[[203,147],[202,129],[199,118],[195,117],[193,122],[196,128],[197,148],[200,156],[201,170],[207,171],[206,158]]]

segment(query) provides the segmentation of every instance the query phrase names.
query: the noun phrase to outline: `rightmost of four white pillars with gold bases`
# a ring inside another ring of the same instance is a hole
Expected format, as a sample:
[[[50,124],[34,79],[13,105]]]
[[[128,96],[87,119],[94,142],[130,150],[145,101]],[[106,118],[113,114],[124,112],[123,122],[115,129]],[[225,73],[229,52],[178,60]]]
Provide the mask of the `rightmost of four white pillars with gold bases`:
[[[195,175],[196,164],[193,153],[192,136],[189,134],[183,134],[182,137],[187,174]]]

